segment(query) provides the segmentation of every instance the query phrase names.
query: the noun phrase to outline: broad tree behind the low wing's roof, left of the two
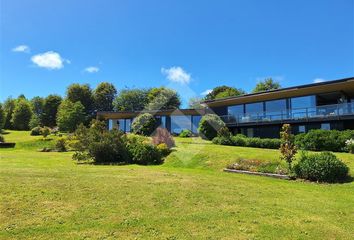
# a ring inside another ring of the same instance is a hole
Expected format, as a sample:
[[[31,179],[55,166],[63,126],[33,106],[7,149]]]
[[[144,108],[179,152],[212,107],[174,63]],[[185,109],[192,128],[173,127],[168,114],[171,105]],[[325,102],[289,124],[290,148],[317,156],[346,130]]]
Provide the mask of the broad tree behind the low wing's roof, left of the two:
[[[114,99],[113,106],[116,111],[141,111],[148,104],[148,90],[123,89]]]

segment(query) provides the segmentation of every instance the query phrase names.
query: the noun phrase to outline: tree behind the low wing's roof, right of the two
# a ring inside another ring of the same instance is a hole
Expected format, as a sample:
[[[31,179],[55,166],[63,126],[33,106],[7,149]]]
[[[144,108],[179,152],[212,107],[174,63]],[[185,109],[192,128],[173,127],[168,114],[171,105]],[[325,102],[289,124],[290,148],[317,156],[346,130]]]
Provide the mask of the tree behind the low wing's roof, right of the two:
[[[168,110],[177,109],[181,105],[178,93],[172,89],[160,87],[152,88],[148,94],[149,110]]]

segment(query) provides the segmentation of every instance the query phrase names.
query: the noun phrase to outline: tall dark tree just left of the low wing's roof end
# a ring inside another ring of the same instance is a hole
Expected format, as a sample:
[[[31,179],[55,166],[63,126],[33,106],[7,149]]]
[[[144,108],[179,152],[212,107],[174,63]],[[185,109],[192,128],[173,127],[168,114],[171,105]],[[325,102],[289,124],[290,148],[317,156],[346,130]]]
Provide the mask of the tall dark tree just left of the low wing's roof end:
[[[93,92],[93,99],[95,102],[95,109],[97,111],[112,111],[113,100],[117,94],[117,89],[113,84],[102,82],[98,84]]]

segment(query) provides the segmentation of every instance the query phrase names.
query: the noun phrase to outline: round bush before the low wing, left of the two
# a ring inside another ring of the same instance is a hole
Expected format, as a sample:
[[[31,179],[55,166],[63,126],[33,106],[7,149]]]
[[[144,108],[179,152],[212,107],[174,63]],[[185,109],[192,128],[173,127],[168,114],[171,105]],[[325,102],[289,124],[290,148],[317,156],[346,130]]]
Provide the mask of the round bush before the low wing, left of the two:
[[[132,123],[132,132],[139,135],[150,136],[156,128],[156,120],[150,113],[144,113]]]

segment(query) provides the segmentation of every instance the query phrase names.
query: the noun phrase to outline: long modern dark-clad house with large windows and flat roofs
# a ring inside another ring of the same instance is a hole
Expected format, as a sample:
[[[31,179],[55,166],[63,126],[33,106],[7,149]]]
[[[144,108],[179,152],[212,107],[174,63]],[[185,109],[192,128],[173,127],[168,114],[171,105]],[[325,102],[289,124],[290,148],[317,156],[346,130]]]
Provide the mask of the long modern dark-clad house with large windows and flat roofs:
[[[311,129],[354,129],[354,77],[204,101],[204,109],[150,112],[171,133],[189,129],[197,133],[201,116],[214,113],[233,133],[248,137],[279,137],[284,123],[293,132]],[[142,111],[147,112],[147,111]],[[99,112],[109,127],[129,132],[140,112]]]

